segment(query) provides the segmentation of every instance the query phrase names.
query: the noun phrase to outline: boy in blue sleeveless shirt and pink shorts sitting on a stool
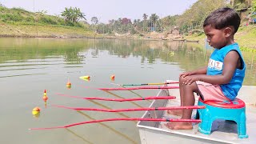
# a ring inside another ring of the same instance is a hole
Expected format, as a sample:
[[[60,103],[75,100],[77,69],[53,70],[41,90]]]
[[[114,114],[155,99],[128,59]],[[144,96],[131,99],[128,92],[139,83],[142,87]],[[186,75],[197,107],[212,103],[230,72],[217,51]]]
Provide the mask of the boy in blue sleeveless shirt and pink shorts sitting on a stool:
[[[215,50],[208,66],[180,74],[181,106],[194,106],[194,92],[205,101],[234,100],[237,96],[246,71],[239,46],[234,42],[240,20],[238,14],[230,8],[214,10],[206,18],[203,30],[207,42]],[[168,113],[190,119],[192,110],[169,110]],[[193,129],[191,122],[168,122],[166,126],[173,130]]]

